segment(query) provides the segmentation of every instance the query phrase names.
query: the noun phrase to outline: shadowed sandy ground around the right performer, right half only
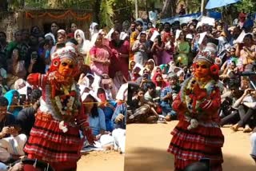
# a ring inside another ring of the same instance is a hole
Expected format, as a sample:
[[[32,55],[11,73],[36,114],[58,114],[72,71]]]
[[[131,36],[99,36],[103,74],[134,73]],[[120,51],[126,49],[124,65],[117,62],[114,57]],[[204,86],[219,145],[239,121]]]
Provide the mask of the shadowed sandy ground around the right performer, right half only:
[[[166,152],[170,143],[170,131],[177,124],[132,124],[127,126],[125,171],[167,171],[174,170],[174,157]],[[253,171],[254,161],[250,158],[250,136],[248,133],[234,133],[223,128],[225,136],[222,153],[223,170]]]

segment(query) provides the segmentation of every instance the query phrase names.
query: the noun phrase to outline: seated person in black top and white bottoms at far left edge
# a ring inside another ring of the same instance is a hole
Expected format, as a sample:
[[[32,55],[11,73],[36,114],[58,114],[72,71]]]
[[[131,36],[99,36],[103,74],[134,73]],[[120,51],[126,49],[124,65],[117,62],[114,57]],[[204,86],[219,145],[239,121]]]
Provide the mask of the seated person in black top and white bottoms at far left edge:
[[[0,161],[10,163],[25,155],[26,135],[19,134],[20,126],[13,114],[7,112],[8,101],[0,97]]]

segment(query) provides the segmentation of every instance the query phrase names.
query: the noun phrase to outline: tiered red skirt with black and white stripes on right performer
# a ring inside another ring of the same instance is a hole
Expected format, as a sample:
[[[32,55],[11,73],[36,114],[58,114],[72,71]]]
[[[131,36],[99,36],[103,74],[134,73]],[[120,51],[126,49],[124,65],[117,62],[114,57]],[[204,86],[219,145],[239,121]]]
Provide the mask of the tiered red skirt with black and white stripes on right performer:
[[[167,151],[174,154],[175,169],[210,158],[212,170],[222,170],[222,145],[224,136],[216,123],[200,124],[197,128],[187,129],[187,121],[179,121],[171,132],[173,135]]]

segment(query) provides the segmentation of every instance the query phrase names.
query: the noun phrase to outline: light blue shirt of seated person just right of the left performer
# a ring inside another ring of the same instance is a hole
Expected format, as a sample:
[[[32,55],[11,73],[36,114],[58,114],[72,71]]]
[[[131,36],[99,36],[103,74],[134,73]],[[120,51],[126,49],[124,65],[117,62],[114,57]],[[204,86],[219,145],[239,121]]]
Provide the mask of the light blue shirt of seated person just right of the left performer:
[[[106,130],[105,114],[103,110],[98,108],[98,117],[89,116],[89,123],[94,136],[98,135],[101,129]]]

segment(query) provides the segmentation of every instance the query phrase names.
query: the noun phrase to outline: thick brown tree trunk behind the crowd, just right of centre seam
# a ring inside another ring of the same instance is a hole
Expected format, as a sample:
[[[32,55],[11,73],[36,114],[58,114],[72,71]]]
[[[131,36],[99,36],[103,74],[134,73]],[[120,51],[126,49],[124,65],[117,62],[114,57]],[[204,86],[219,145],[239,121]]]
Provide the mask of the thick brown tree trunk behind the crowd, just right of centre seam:
[[[176,14],[176,2],[177,0],[166,0],[162,7],[161,18],[174,17]]]

